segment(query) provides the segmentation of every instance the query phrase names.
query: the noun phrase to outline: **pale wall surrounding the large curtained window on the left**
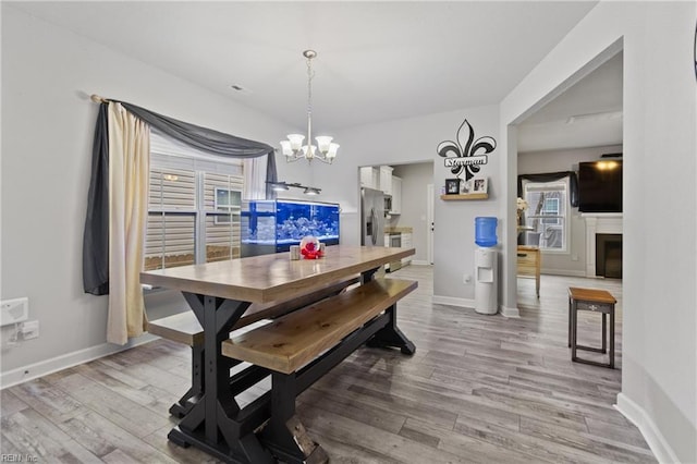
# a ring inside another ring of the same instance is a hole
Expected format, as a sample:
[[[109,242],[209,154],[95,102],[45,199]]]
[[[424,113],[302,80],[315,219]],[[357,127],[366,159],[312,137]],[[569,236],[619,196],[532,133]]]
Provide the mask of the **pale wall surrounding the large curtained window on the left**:
[[[93,93],[271,145],[297,130],[2,3],[1,297],[28,296],[40,323],[38,339],[15,346],[2,329],[3,383],[20,367],[19,379],[26,366],[32,377],[65,362],[51,359],[117,349],[105,346],[107,297],[82,286]],[[280,179],[311,181],[279,161]],[[149,298],[148,312],[186,307],[171,295]]]

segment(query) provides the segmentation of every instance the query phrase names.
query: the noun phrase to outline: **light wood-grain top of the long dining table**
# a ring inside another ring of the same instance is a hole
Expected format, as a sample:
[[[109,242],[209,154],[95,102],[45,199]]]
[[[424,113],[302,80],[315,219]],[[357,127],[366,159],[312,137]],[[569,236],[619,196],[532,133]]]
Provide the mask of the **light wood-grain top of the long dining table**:
[[[289,300],[338,280],[414,255],[414,248],[328,246],[320,259],[289,253],[140,272],[155,286],[253,303]]]

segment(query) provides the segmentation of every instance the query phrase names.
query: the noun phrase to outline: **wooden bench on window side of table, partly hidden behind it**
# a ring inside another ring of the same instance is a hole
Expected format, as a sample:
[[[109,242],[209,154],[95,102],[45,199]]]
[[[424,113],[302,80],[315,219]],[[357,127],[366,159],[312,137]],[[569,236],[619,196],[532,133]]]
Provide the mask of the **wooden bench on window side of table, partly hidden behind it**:
[[[233,326],[232,330],[247,327],[262,319],[273,319],[301,309],[323,298],[337,295],[358,281],[359,278],[356,276],[348,280],[328,285],[317,292],[303,295],[299,298],[252,304],[237,323]],[[189,400],[199,396],[204,391],[204,330],[194,312],[186,310],[148,321],[148,332],[167,340],[187,344],[192,347],[192,387],[170,407],[170,414],[180,418],[184,417],[192,407]]]

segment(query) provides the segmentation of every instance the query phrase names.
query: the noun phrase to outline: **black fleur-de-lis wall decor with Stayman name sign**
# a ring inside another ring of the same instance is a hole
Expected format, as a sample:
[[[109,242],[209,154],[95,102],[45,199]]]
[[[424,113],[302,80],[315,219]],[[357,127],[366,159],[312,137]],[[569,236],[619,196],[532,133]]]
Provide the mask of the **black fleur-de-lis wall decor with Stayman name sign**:
[[[457,142],[443,141],[438,144],[438,156],[445,158],[445,168],[457,178],[465,171],[465,182],[479,172],[481,164],[489,162],[487,154],[493,151],[497,141],[484,136],[475,141],[475,130],[464,120],[457,129]]]

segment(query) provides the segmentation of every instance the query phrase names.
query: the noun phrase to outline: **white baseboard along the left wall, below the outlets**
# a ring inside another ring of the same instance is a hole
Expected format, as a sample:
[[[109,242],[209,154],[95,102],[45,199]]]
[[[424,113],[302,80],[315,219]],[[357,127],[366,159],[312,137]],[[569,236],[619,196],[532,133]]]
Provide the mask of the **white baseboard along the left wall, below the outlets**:
[[[126,343],[125,345],[102,343],[100,345],[63,354],[61,356],[41,361],[39,363],[29,364],[24,367],[19,367],[16,369],[0,373],[0,389],[13,387],[27,380],[34,380],[39,377],[57,373],[69,367],[77,366],[83,363],[88,363],[90,361],[95,361],[113,353],[119,353],[121,351],[132,349],[133,346],[138,346],[158,339],[159,337],[144,333],[138,338],[131,339],[131,341],[129,341],[129,343]]]

